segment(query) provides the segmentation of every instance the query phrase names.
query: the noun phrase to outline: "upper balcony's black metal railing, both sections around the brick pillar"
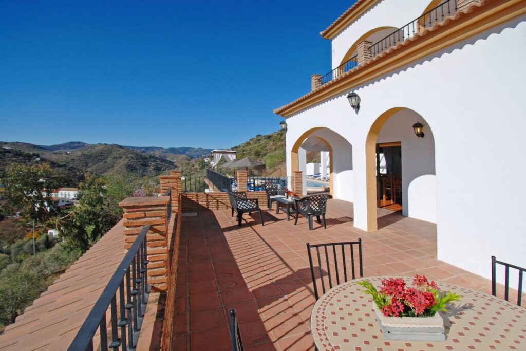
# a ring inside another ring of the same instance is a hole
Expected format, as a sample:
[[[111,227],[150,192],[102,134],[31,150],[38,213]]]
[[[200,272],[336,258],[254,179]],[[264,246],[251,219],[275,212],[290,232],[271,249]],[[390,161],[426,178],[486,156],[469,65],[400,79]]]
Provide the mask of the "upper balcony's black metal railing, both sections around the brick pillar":
[[[380,39],[378,42],[372,44],[369,47],[371,57],[386,51],[388,48],[403,42],[407,38],[413,37],[415,34],[422,32],[424,29],[432,27],[437,22],[442,22],[445,17],[454,15],[458,11],[457,0],[446,0],[440,3],[437,7],[430,9],[430,11],[424,13],[408,24],[401,28],[396,29],[385,38]],[[333,79],[336,79],[345,72],[350,71],[352,68],[358,66],[357,56],[351,57],[348,61],[342,65],[336,67],[326,75],[323,75],[319,82],[321,85],[326,84]]]

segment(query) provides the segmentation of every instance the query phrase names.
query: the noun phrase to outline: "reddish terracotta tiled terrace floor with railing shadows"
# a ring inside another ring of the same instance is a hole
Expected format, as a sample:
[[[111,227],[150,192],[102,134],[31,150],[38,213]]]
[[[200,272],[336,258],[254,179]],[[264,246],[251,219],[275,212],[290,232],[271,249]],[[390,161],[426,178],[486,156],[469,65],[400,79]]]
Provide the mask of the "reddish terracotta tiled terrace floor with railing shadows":
[[[436,258],[436,225],[379,211],[377,232],[353,227],[352,204],[329,200],[327,229],[307,220],[229,210],[184,217],[177,286],[174,350],[229,350],[230,308],[236,308],[248,350],[314,349],[310,314],[315,297],[306,243],[362,238],[365,276],[425,274],[489,292],[490,282]],[[351,215],[352,216],[352,215]]]

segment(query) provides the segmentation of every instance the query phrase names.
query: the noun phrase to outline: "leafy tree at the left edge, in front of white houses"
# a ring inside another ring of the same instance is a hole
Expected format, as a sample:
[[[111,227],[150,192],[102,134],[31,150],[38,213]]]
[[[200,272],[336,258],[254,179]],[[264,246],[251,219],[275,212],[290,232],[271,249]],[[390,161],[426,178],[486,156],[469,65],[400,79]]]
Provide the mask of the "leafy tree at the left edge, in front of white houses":
[[[0,178],[9,209],[22,209],[27,217],[45,223],[56,212],[51,198],[52,189],[56,188],[54,176],[53,169],[47,164],[9,166]]]

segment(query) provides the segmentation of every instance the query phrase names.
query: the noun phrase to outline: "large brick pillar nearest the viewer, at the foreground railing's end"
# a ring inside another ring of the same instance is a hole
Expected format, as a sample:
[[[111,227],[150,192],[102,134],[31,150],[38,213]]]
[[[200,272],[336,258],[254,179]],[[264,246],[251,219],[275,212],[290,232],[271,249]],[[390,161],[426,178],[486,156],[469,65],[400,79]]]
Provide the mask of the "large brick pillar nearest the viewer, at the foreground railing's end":
[[[143,226],[150,225],[148,245],[148,282],[156,290],[166,290],[168,259],[169,196],[127,197],[119,206],[124,210],[124,248],[135,242]]]

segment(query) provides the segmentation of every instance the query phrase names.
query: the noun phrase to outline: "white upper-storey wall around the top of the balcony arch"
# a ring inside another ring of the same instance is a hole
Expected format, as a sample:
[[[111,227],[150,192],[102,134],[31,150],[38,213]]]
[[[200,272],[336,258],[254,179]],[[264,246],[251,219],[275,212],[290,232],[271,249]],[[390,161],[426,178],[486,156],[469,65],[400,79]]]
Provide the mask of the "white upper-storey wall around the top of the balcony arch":
[[[378,27],[400,28],[420,16],[430,2],[428,0],[379,1],[332,39],[331,69],[340,65],[343,56],[363,34]]]

